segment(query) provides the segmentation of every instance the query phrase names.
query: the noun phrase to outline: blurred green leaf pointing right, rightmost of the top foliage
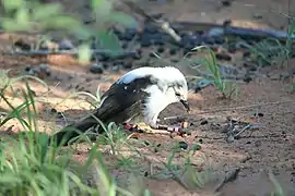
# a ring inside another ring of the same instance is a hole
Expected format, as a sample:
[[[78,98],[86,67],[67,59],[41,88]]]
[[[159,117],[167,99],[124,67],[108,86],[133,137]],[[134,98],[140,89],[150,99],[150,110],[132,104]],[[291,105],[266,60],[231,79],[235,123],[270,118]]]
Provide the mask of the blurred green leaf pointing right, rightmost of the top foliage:
[[[123,12],[113,12],[108,19],[113,23],[118,23],[119,25],[126,27],[137,27],[138,22],[131,16]]]

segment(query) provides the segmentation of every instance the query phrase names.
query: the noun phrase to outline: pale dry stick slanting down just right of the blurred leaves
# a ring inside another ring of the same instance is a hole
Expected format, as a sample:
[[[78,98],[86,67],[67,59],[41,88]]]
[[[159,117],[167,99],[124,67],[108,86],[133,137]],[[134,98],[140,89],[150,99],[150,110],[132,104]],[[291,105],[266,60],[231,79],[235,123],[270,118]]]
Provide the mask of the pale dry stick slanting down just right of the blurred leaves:
[[[181,40],[181,37],[176,34],[176,32],[170,27],[170,25],[169,25],[168,22],[154,19],[153,16],[151,16],[150,14],[148,14],[144,10],[142,10],[141,8],[139,8],[137,4],[134,4],[133,2],[130,2],[129,1],[129,2],[125,2],[125,4],[127,4],[135,13],[142,15],[143,17],[148,19],[149,21],[154,22],[164,32],[166,32],[167,34],[169,34],[177,42],[179,42]]]

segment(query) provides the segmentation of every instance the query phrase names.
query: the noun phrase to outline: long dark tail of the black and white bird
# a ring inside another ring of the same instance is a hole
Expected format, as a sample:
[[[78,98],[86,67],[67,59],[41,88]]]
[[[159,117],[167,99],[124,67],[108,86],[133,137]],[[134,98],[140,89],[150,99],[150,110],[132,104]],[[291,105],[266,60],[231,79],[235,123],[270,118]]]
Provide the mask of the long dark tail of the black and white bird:
[[[85,133],[88,128],[99,124],[93,115],[87,115],[86,118],[74,122],[61,131],[57,132],[50,136],[49,143],[54,142],[56,145],[67,145],[69,140],[78,137],[80,134]]]

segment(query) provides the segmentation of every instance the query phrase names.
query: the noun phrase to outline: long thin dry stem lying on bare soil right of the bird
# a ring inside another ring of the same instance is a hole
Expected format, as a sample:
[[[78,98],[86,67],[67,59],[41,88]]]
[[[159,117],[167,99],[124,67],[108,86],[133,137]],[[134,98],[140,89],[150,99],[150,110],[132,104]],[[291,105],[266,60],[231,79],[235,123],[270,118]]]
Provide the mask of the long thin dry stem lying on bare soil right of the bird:
[[[205,114],[205,113],[215,113],[215,112],[231,111],[231,110],[244,110],[244,109],[262,107],[262,106],[281,105],[281,103],[294,103],[294,102],[295,102],[295,100],[285,100],[285,101],[266,102],[266,103],[260,103],[260,105],[248,105],[248,106],[234,107],[234,108],[220,108],[220,109],[215,109],[215,110],[210,110],[210,111],[203,111],[203,112],[193,113],[192,115],[196,115],[196,114]],[[164,120],[173,120],[173,119],[177,119],[179,117],[180,115],[167,117],[167,118],[164,118]]]

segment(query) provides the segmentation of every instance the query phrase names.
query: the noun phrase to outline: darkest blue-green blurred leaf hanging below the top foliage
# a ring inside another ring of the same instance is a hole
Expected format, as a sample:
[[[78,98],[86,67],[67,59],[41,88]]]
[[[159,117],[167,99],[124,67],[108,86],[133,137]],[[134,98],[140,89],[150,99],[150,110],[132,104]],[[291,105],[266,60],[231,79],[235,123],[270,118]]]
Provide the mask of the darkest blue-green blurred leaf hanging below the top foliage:
[[[113,32],[98,32],[101,48],[109,50],[110,56],[117,56],[122,52],[118,37]]]

